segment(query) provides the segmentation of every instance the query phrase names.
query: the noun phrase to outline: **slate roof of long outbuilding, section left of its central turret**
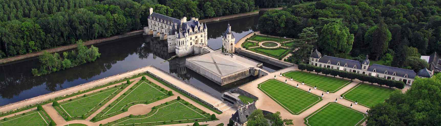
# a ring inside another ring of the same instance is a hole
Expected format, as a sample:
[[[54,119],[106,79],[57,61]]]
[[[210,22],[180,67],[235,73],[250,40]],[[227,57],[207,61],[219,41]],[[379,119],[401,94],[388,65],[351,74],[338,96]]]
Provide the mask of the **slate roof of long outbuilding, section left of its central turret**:
[[[356,69],[361,69],[361,64],[359,61],[355,61],[355,60],[348,60],[348,59],[344,59],[344,58],[336,58],[336,57],[331,57],[331,56],[323,56],[321,57],[318,62],[321,63],[325,63],[328,64],[328,61],[331,61],[332,65],[337,65],[337,63],[340,62],[339,66],[344,66],[345,64],[348,64],[348,68],[354,68],[354,65],[357,65]]]

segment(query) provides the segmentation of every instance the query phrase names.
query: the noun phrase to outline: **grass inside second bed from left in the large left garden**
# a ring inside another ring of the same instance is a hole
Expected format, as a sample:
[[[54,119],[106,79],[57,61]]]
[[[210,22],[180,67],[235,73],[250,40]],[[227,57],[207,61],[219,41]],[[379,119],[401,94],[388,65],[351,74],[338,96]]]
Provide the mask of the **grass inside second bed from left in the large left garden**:
[[[90,110],[97,107],[98,104],[105,104],[103,101],[109,98],[112,94],[116,93],[118,90],[122,89],[114,88],[112,90],[90,94],[87,97],[80,97],[79,99],[60,104],[60,107],[71,117],[86,115],[86,113],[90,112]]]

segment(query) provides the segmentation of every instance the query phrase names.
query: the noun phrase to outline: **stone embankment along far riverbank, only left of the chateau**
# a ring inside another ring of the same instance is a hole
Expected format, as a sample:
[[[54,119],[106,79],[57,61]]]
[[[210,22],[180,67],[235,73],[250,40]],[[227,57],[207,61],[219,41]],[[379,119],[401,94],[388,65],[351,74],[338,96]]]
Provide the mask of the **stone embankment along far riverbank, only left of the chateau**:
[[[140,35],[142,33],[143,33],[143,30],[128,32],[128,33],[125,33],[125,34],[122,34],[122,35],[118,35],[118,36],[112,36],[112,37],[102,38],[102,39],[98,39],[98,40],[90,40],[90,41],[85,42],[84,45],[87,46],[87,45],[92,45],[92,44],[96,44],[96,43],[102,43],[102,42],[107,42],[107,41],[111,41],[111,40],[117,40],[117,39],[121,39],[121,38],[125,38],[125,37]],[[76,48],[76,47],[77,47],[77,44],[73,44],[73,45],[68,45],[68,46],[56,47],[56,48],[53,48],[53,49],[47,49],[47,50],[43,50],[43,51],[47,51],[49,53],[54,53],[54,52],[59,52],[59,51],[63,51],[63,50],[73,49],[73,48]],[[7,63],[7,62],[11,62],[11,61],[18,61],[18,60],[22,60],[22,59],[26,59],[26,58],[37,57],[37,56],[42,55],[43,51],[39,51],[39,52],[35,52],[35,53],[30,53],[30,54],[23,54],[23,55],[11,57],[11,58],[0,59],[0,64],[4,64],[4,63]]]

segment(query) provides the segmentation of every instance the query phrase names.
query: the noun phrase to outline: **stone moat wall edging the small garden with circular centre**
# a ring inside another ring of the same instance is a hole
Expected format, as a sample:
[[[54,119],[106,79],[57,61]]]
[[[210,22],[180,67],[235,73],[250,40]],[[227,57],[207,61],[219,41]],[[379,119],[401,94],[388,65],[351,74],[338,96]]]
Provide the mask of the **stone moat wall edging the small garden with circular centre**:
[[[241,50],[239,48],[235,48],[235,53],[241,54],[241,55],[249,57],[249,58],[254,58],[254,59],[257,59],[258,61],[262,61],[262,62],[265,62],[268,64],[276,65],[281,68],[286,68],[286,67],[292,66],[292,65],[284,63],[282,61],[278,61],[278,60],[274,60],[272,58],[267,58],[267,57],[264,57],[264,56],[261,56],[258,54],[250,53],[250,52]]]

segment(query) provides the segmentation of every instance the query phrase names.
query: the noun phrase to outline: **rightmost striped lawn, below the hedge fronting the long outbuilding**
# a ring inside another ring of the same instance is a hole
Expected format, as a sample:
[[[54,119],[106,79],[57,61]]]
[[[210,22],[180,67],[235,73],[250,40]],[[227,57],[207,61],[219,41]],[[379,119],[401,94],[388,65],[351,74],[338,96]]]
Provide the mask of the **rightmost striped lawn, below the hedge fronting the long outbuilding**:
[[[343,94],[344,99],[358,101],[358,104],[368,108],[384,102],[394,90],[385,87],[359,83]]]

